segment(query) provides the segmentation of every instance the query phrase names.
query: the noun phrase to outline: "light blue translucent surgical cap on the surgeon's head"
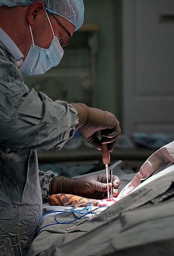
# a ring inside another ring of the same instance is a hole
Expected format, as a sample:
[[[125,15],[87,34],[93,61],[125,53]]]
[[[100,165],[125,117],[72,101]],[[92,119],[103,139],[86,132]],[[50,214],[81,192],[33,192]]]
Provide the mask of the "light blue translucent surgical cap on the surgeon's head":
[[[45,4],[45,9],[49,13],[60,15],[78,30],[84,20],[84,3],[83,0],[41,0]],[[29,6],[36,0],[0,0],[0,6]]]

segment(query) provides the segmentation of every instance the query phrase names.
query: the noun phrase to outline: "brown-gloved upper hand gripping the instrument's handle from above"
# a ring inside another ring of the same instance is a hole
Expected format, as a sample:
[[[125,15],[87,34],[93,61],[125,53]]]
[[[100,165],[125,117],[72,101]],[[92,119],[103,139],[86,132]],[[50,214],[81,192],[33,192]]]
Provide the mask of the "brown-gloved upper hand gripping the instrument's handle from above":
[[[101,143],[106,143],[109,152],[112,152],[121,132],[116,117],[110,112],[89,108],[83,103],[71,104],[78,112],[79,124],[77,129],[81,135],[97,150],[101,150]],[[101,140],[95,135],[97,131],[101,131]]]

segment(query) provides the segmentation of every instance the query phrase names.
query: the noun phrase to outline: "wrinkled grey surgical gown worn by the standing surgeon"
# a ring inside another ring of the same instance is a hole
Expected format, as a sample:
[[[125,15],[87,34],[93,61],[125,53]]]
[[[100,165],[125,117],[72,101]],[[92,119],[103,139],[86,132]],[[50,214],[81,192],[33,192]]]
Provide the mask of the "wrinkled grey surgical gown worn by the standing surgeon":
[[[78,124],[76,110],[29,91],[0,41],[0,255],[26,255],[41,217],[37,149],[60,150]]]

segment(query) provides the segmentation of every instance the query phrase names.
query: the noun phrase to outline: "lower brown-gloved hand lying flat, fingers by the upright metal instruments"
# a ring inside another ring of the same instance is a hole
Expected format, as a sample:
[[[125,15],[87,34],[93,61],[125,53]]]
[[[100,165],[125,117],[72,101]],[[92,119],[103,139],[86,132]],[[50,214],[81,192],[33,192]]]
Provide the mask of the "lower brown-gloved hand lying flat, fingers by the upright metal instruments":
[[[113,175],[113,197],[118,192],[119,184],[119,178]],[[109,188],[111,189],[111,187],[112,183],[109,183]],[[71,194],[92,199],[103,199],[107,197],[106,175],[90,175],[74,179],[55,177],[51,182],[49,194]]]

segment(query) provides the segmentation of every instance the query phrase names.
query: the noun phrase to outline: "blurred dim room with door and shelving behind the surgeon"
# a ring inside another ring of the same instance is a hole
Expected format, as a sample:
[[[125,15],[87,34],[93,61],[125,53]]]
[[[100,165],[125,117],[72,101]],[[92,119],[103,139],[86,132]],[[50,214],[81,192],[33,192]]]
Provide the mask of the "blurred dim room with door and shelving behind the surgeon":
[[[60,65],[24,76],[53,100],[111,111],[122,135],[111,162],[125,172],[174,139],[174,1],[84,0],[85,20]],[[78,132],[61,151],[38,152],[39,168],[72,177],[103,169],[102,154]]]

